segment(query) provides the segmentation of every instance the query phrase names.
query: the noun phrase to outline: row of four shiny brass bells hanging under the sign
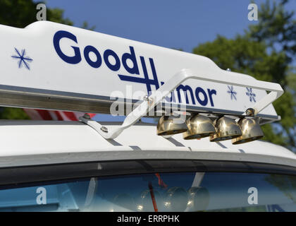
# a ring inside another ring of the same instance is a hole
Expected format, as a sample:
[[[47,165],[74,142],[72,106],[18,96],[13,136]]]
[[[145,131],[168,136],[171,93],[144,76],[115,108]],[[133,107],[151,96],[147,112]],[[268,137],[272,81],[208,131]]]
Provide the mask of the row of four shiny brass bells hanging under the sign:
[[[176,121],[178,123],[176,123]],[[233,144],[255,141],[264,136],[259,118],[254,117],[254,109],[247,109],[245,116],[236,121],[224,115],[212,120],[202,114],[192,114],[180,123],[180,116],[162,116],[157,124],[157,135],[172,136],[183,133],[185,140],[209,136],[209,141],[232,140]]]

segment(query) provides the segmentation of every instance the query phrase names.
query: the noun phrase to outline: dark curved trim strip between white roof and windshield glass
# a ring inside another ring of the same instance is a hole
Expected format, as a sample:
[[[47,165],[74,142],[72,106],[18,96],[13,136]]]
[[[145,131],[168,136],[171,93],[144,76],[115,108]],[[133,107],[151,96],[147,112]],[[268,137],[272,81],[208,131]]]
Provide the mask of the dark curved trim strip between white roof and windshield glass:
[[[90,177],[176,172],[245,172],[296,175],[296,167],[243,161],[121,160],[75,162],[0,169],[0,185],[16,186]]]

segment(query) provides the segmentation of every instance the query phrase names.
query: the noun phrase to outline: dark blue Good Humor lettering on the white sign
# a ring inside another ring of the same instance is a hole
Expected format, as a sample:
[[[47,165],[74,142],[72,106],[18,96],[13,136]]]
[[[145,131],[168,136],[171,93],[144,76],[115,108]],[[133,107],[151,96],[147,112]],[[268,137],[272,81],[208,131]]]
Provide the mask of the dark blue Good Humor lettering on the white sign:
[[[80,48],[75,47],[75,46],[71,46],[74,50],[74,56],[73,57],[67,56],[66,54],[64,54],[61,51],[61,47],[60,47],[60,40],[63,37],[66,37],[66,38],[72,40],[73,42],[75,42],[76,44],[78,44],[78,40],[75,35],[73,35],[70,32],[67,32],[65,30],[60,30],[60,31],[56,32],[56,34],[54,34],[54,49],[56,49],[56,53],[58,54],[59,57],[61,57],[61,59],[63,59],[63,61],[66,61],[68,64],[78,64],[81,61]],[[92,59],[90,59],[90,52],[92,52],[97,57],[97,59],[95,61],[92,61]],[[87,61],[87,64],[89,64],[90,66],[92,66],[95,69],[97,69],[101,66],[102,57],[101,57],[101,54],[99,53],[99,51],[95,47],[93,47],[91,45],[87,45],[83,51],[83,54],[84,54],[85,60]],[[114,64],[111,64],[111,62],[109,61],[110,57],[113,57],[113,59],[115,59]],[[137,58],[135,56],[134,47],[130,46],[130,52],[125,52],[122,55],[121,59],[118,57],[116,52],[114,52],[112,49],[106,49],[103,54],[103,59],[104,59],[106,66],[109,69],[111,69],[112,71],[118,71],[121,68],[121,63],[122,63],[123,67],[125,68],[125,71],[127,71],[130,74],[140,75],[139,67],[137,64]],[[128,66],[128,63],[127,63],[128,59],[130,61],[132,61],[132,66]],[[159,89],[159,80],[157,78],[156,69],[154,66],[154,61],[152,58],[149,58],[149,64],[150,64],[153,78],[149,78],[149,76],[148,76],[148,70],[147,70],[147,66],[146,66],[146,62],[145,62],[144,57],[140,56],[140,62],[142,65],[142,71],[144,74],[144,78],[139,78],[138,76],[127,76],[127,75],[123,75],[123,74],[118,74],[118,77],[121,79],[121,81],[129,81],[132,83],[145,84],[146,88],[147,88],[147,93],[148,93],[148,95],[150,95],[152,92],[152,85],[155,86],[156,90]],[[161,85],[163,85],[163,84],[164,83],[161,82]],[[211,90],[208,88],[207,94],[206,94],[206,91],[204,91],[203,88],[197,87],[195,89],[195,93],[193,93],[193,90],[190,87],[190,85],[179,85],[176,88],[176,91],[178,94],[178,102],[179,103],[182,102],[180,92],[183,92],[185,94],[186,104],[190,104],[190,100],[187,95],[189,92],[192,105],[196,105],[196,102],[195,102],[195,98],[196,98],[197,102],[199,102],[200,105],[206,106],[208,104],[208,102],[210,102],[211,107],[214,107],[213,95],[217,95],[216,90]],[[171,96],[167,96],[165,98],[166,98],[167,102],[176,102],[175,92],[171,92]]]

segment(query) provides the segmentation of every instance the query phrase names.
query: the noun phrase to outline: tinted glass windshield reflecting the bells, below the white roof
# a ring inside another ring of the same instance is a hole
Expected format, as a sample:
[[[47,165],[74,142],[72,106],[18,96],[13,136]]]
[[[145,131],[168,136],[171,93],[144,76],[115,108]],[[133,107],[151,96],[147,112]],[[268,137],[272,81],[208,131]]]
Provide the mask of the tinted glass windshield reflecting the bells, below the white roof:
[[[180,172],[1,186],[2,211],[296,211],[296,177]]]

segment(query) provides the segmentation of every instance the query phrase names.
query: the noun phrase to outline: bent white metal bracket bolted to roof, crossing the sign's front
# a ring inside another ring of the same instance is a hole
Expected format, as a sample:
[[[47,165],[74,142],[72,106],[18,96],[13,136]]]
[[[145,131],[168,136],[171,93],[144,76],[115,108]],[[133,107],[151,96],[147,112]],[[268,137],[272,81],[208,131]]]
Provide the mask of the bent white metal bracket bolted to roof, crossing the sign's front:
[[[269,106],[274,100],[278,99],[283,94],[283,89],[278,83],[269,83],[265,81],[257,80],[246,80],[242,83],[242,78],[235,75],[228,75],[225,78],[221,78],[220,75],[213,76],[203,76],[199,75],[196,71],[191,69],[182,69],[170,78],[164,85],[162,85],[157,92],[152,93],[147,98],[147,101],[143,101],[137,108],[135,108],[123,121],[121,126],[110,129],[101,126],[99,122],[93,121],[92,119],[87,119],[85,117],[80,117],[80,120],[85,124],[91,126],[95,129],[101,136],[106,139],[112,139],[118,137],[125,129],[135,124],[139,119],[144,117],[149,110],[153,109],[158,105],[164,97],[169,95],[175,88],[187,79],[194,78],[201,81],[211,81],[215,83],[224,83],[228,85],[238,85],[243,87],[255,88],[258,90],[268,90],[270,93],[263,97],[259,102],[252,106],[254,109],[254,114],[258,114],[265,107]]]

